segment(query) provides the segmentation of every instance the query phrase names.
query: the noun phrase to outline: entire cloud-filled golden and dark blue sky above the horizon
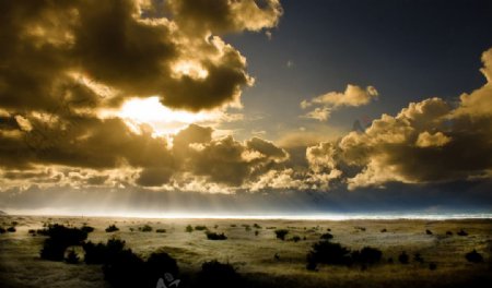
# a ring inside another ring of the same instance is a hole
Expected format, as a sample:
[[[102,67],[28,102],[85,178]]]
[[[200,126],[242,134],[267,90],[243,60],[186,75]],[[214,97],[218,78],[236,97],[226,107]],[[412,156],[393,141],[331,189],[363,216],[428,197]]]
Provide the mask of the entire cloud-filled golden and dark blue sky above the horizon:
[[[492,213],[492,3],[0,1],[0,209]]]

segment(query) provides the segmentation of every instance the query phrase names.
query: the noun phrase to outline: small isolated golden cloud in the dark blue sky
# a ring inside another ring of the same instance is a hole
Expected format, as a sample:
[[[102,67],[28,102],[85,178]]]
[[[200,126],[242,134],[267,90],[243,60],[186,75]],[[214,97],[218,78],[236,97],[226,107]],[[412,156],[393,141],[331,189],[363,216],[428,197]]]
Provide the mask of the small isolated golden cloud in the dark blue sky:
[[[316,107],[303,117],[326,121],[329,119],[331,112],[339,107],[358,107],[367,105],[371,100],[377,98],[377,96],[378,93],[373,86],[367,86],[363,89],[356,85],[349,84],[343,93],[329,92],[311,100],[303,100],[301,103],[301,108],[307,109],[312,106],[320,106]]]

